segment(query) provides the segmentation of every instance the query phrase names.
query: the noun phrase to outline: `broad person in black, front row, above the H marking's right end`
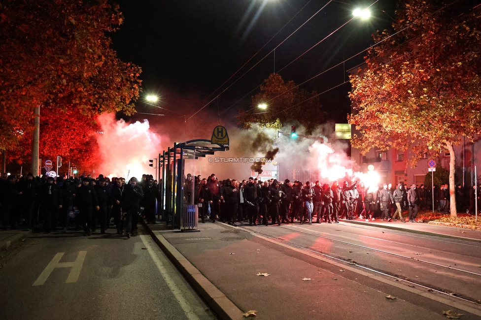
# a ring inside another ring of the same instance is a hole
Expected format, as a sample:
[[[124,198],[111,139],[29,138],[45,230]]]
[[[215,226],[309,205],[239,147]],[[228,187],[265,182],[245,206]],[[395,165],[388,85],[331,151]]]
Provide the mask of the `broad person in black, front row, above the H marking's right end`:
[[[73,210],[79,211],[81,215],[82,227],[85,231],[85,235],[90,236],[92,226],[92,216],[94,209],[99,210],[99,201],[94,187],[90,185],[89,178],[82,178],[82,185],[77,189],[75,193],[75,199],[73,201]]]

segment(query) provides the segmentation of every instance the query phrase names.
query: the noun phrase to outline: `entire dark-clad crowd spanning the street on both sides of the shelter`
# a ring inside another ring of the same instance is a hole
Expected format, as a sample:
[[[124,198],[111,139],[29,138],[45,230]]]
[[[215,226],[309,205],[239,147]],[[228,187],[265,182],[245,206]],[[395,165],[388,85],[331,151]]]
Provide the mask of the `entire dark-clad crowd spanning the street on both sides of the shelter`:
[[[475,188],[467,191],[456,186],[456,208],[473,214]],[[435,208],[448,213],[449,190],[442,185],[434,190]],[[139,213],[147,224],[156,223],[156,201],[160,201],[157,182],[151,175],[126,180],[100,175],[63,179],[58,177],[34,177],[32,173],[17,178],[2,174],[0,178],[0,230],[8,228],[31,229],[40,225],[46,233],[61,230],[83,230],[85,235],[97,231],[104,234],[114,225],[117,234],[128,238],[135,235]],[[305,184],[289,179],[261,181],[250,177],[237,181],[221,182],[215,174],[202,179],[199,175],[187,175],[184,183],[187,203],[197,204],[202,223],[216,220],[237,225],[248,222],[257,224],[339,223],[339,219],[366,219],[366,222],[382,221],[416,222],[419,210],[432,208],[432,192],[421,185],[405,184],[393,187],[365,188],[359,181],[342,186],[319,181]],[[478,196],[478,202],[480,197]],[[403,210],[409,210],[407,217]],[[111,220],[113,219],[113,223]]]

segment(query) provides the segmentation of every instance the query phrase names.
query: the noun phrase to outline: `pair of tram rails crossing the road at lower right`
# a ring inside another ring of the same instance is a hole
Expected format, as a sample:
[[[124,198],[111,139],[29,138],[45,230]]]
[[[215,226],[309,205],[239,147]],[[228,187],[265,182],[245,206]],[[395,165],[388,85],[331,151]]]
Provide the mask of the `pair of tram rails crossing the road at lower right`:
[[[360,247],[360,248],[363,248],[363,249],[368,249],[368,250],[374,250],[376,252],[379,252],[379,253],[385,253],[385,254],[388,254],[388,255],[392,255],[392,256],[398,256],[398,257],[401,257],[401,258],[405,258],[405,259],[409,259],[411,261],[419,261],[419,262],[423,262],[423,263],[427,263],[427,264],[430,264],[430,265],[434,265],[434,266],[438,266],[438,267],[443,267],[443,268],[447,268],[447,269],[451,269],[451,270],[455,270],[455,271],[458,271],[458,272],[464,272],[464,273],[468,273],[468,274],[471,274],[471,275],[474,275],[474,276],[479,276],[481,277],[481,274],[479,273],[475,273],[475,272],[470,272],[470,271],[467,271],[467,270],[462,270],[462,269],[458,269],[458,268],[453,268],[453,267],[449,267],[449,266],[444,266],[444,265],[440,265],[440,264],[437,264],[437,263],[433,263],[433,262],[429,262],[429,261],[422,261],[422,260],[419,260],[419,259],[415,259],[415,258],[412,258],[412,257],[408,257],[408,256],[402,256],[402,255],[397,255],[397,254],[394,254],[394,253],[389,253],[389,252],[384,252],[382,250],[378,250],[378,249],[375,249],[375,248],[369,248],[369,247],[366,247],[366,246],[361,246],[361,245],[357,245],[357,244],[352,244],[352,243],[348,243],[346,241],[343,241],[343,240],[338,240],[338,239],[334,239],[334,238],[329,238],[329,237],[325,237],[325,236],[320,236],[318,234],[313,234],[313,233],[310,233],[310,232],[307,232],[307,231],[303,231],[303,230],[298,230],[298,229],[292,229],[292,228],[289,228],[289,227],[285,227],[285,226],[280,226],[281,228],[283,229],[287,229],[287,230],[290,230],[290,231],[295,231],[295,232],[299,232],[299,233],[303,233],[303,234],[306,234],[306,235],[311,235],[311,236],[315,236],[315,237],[320,237],[320,238],[325,238],[327,240],[332,240],[332,241],[337,241],[337,242],[340,242],[340,243],[344,243],[344,244],[347,244],[347,245],[353,245],[353,246],[356,246],[356,247]],[[276,236],[273,236],[273,235],[270,235],[268,233],[265,233],[265,232],[262,232],[262,231],[258,231],[258,230],[253,230],[253,229],[250,229],[250,228],[247,228],[245,226],[239,226],[240,229],[248,232],[248,233],[251,233],[251,234],[254,234],[254,235],[261,235],[263,237],[266,237],[270,240],[273,240],[274,242],[279,242],[279,243],[283,243],[285,245],[288,245],[290,247],[293,247],[293,248],[297,248],[297,249],[301,249],[303,251],[307,251],[307,252],[310,252],[310,253],[314,253],[316,255],[320,255],[320,256],[324,256],[324,257],[327,257],[327,258],[330,258],[330,259],[333,259],[335,261],[339,261],[339,262],[342,262],[344,264],[348,264],[352,267],[358,267],[358,268],[361,268],[361,269],[364,269],[364,270],[367,270],[367,271],[370,271],[370,272],[374,272],[376,274],[379,274],[379,275],[383,275],[383,276],[386,276],[386,277],[389,277],[391,279],[394,279],[394,281],[403,281],[405,283],[408,284],[408,286],[412,287],[412,286],[418,286],[420,288],[424,288],[426,289],[427,291],[429,292],[437,292],[437,293],[440,293],[440,294],[443,294],[443,295],[446,295],[446,296],[450,296],[450,297],[454,297],[456,299],[460,299],[462,301],[466,301],[466,302],[469,302],[469,303],[472,303],[472,304],[475,304],[477,305],[478,307],[481,305],[481,301],[480,300],[477,300],[477,299],[474,299],[474,298],[471,298],[469,296],[466,296],[466,295],[463,295],[463,294],[459,294],[459,293],[453,293],[447,289],[444,289],[444,288],[440,288],[440,287],[436,287],[436,286],[433,286],[431,284],[427,284],[427,283],[422,283],[420,281],[414,281],[412,279],[408,279],[407,277],[404,277],[404,276],[400,276],[400,275],[397,275],[393,272],[389,272],[389,271],[385,271],[385,270],[380,270],[378,268],[374,268],[372,266],[368,266],[368,265],[365,265],[365,264],[362,264],[362,263],[359,263],[359,262],[356,262],[356,261],[352,261],[352,259],[347,259],[347,258],[344,258],[344,257],[341,257],[341,256],[334,256],[334,255],[330,255],[330,254],[327,254],[327,253],[324,253],[324,252],[321,252],[321,251],[317,251],[315,249],[312,249],[312,248],[309,248],[309,247],[306,247],[306,246],[303,246],[303,245],[300,245],[300,244],[297,244],[297,243],[294,243],[292,241],[288,241],[288,240],[284,240],[284,239],[281,239],[279,237],[276,237]]]

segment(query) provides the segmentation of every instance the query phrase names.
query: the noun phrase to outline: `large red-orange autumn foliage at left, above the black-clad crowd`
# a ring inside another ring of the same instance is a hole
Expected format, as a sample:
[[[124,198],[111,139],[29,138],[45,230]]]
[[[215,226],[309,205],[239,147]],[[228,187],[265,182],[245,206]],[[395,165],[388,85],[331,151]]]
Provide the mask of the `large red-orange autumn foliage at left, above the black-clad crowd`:
[[[135,112],[140,69],[117,58],[107,35],[122,19],[107,0],[0,1],[0,150],[25,161],[37,106],[41,152],[72,157],[97,115]]]

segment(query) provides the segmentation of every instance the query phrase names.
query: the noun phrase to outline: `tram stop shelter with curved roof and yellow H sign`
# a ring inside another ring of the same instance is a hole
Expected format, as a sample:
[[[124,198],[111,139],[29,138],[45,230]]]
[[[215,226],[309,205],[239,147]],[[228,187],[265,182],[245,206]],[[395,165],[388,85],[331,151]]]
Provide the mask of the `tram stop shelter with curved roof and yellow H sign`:
[[[185,161],[196,161],[217,151],[229,150],[227,130],[222,126],[214,128],[212,139],[196,139],[174,143],[159,154],[159,177],[162,220],[172,229],[199,231],[199,204],[194,199],[195,177],[186,184]]]

